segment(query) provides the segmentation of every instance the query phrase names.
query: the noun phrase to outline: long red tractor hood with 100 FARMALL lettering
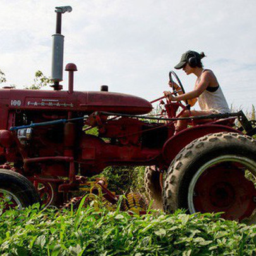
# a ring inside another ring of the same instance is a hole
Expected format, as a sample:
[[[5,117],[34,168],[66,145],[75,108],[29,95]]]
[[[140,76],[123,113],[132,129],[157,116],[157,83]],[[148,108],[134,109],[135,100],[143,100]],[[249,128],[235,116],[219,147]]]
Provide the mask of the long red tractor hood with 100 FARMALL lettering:
[[[67,91],[0,89],[0,101],[12,109],[68,110],[85,114],[94,111],[147,114],[152,110],[152,104],[140,97],[102,91],[70,94]]]

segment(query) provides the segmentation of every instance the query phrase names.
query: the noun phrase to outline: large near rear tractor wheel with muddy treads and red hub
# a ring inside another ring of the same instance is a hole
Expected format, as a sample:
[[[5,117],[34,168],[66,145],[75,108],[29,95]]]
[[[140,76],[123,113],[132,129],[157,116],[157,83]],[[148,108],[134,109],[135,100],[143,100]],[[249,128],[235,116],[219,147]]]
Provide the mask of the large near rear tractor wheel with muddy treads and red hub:
[[[256,140],[214,133],[194,140],[174,158],[163,188],[164,210],[224,212],[225,219],[256,222]]]

